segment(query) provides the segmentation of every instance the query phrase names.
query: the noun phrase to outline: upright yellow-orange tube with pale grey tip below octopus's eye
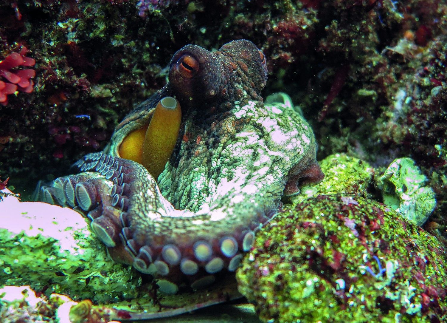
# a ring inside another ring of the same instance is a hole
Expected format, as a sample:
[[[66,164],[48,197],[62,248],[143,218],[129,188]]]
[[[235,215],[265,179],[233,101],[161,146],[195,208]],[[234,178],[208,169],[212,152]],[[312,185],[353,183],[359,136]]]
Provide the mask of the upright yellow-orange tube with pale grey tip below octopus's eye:
[[[171,157],[177,143],[180,123],[180,103],[173,97],[162,98],[152,115],[141,154],[141,164],[156,179]]]

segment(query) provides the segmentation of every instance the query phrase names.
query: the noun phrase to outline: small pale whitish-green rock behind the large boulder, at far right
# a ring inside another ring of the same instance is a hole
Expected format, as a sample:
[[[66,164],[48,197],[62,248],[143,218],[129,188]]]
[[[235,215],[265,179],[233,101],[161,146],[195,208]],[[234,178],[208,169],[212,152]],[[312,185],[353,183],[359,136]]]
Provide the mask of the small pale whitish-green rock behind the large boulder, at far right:
[[[433,212],[436,200],[427,178],[411,158],[395,159],[377,180],[384,204],[406,219],[423,225]]]

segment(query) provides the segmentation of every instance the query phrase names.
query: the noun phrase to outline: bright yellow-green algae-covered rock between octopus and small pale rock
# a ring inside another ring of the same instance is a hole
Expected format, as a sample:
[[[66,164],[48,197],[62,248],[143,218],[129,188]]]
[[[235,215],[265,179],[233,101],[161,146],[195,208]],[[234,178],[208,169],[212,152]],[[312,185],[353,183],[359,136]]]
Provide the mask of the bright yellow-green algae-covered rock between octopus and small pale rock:
[[[301,187],[300,194],[292,196],[292,204],[298,204],[308,197],[319,194],[368,197],[367,188],[372,182],[374,168],[367,162],[343,153],[335,153],[319,164],[325,178],[316,185]]]

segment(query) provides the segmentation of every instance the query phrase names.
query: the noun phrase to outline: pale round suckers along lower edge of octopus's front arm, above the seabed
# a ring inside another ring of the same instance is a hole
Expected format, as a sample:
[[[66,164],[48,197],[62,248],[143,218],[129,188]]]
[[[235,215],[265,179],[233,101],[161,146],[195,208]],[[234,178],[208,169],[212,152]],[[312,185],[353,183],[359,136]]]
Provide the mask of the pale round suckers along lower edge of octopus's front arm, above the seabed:
[[[160,277],[157,284],[165,293],[177,293],[181,282],[178,275],[184,276],[193,289],[199,289],[212,284],[215,274],[224,269],[236,271],[242,252],[249,251],[254,241],[254,232],[246,229],[236,237],[227,235],[211,242],[198,240],[188,246],[173,243],[157,248],[139,246],[132,238],[126,212],[121,213],[120,220],[122,242],[134,257],[133,267],[139,272]]]

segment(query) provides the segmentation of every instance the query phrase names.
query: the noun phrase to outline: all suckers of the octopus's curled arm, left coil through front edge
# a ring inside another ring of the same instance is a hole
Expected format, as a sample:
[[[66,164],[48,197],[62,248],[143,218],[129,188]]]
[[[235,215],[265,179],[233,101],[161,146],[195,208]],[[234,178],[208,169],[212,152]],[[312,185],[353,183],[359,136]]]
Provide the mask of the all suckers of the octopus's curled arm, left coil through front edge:
[[[136,242],[127,212],[132,203],[130,163],[104,153],[90,153],[73,165],[80,174],[56,178],[51,186],[42,187],[41,200],[86,214],[97,238],[109,248],[122,243],[133,267],[159,278],[157,284],[165,293],[177,293],[183,282],[193,289],[202,288],[213,283],[224,269],[234,272],[242,253],[253,244],[252,227],[188,246],[166,243],[155,247]]]

